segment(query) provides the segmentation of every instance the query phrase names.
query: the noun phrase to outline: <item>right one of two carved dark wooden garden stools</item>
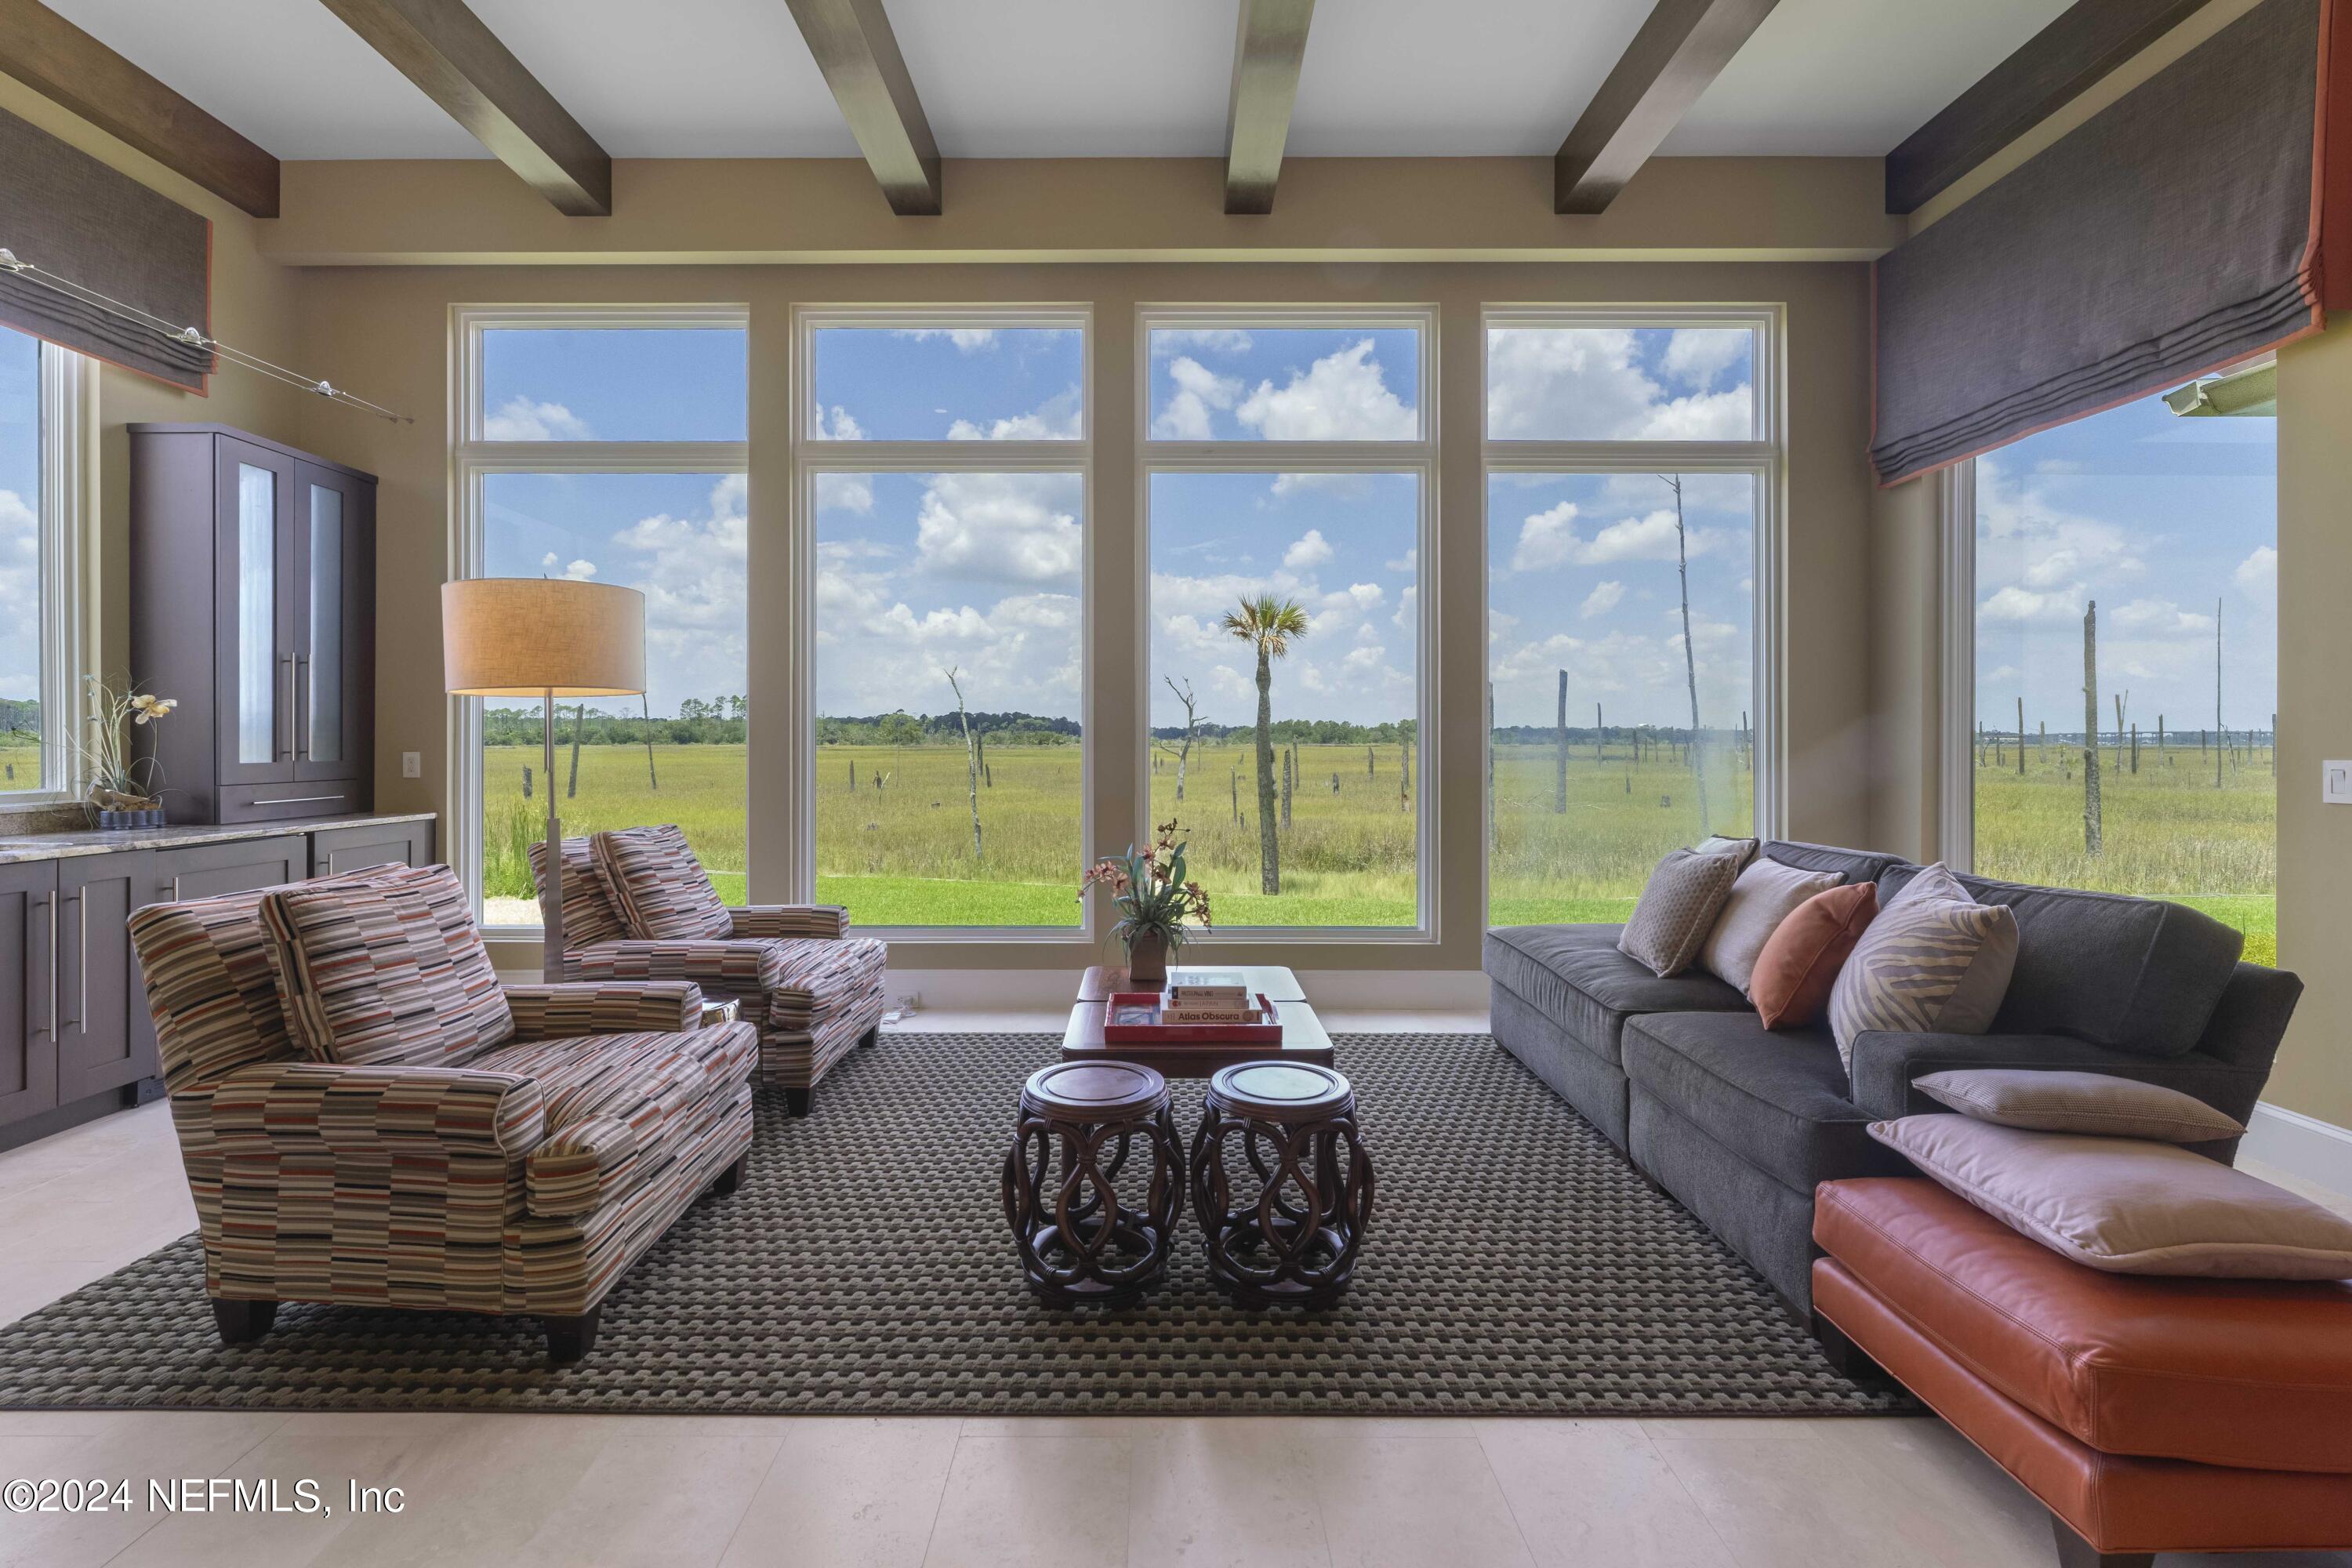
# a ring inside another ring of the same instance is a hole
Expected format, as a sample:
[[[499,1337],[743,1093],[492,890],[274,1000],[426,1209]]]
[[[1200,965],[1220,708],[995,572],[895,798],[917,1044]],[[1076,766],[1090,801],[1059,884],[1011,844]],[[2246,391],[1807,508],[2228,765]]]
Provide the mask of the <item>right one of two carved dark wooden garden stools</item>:
[[[1237,1194],[1230,1168],[1249,1164]],[[1329,1307],[1371,1222],[1371,1154],[1355,1088],[1312,1063],[1237,1063],[1209,1079],[1192,1135],[1192,1213],[1209,1284],[1244,1307]]]

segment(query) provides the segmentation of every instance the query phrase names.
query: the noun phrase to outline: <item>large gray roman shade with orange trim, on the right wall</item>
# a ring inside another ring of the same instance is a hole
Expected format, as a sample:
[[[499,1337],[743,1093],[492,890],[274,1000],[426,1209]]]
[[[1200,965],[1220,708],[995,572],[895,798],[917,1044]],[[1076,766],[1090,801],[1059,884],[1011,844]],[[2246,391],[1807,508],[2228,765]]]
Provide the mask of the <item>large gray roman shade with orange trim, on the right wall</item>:
[[[2265,0],[1879,259],[1882,484],[2321,324],[2321,14]]]

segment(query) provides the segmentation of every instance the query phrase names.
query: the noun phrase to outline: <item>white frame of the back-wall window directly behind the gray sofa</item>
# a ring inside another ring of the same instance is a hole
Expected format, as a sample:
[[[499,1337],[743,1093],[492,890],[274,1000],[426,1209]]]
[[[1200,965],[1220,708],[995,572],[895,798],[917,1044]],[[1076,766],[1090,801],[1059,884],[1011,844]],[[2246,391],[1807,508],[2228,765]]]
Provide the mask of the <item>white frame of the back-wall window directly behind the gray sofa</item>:
[[[1748,442],[1557,442],[1496,440],[1486,430],[1489,367],[1486,348],[1496,329],[1682,329],[1748,327],[1755,331],[1755,414],[1757,437]],[[1588,475],[1588,473],[1729,473],[1755,482],[1755,597],[1750,609],[1750,670],[1755,684],[1755,830],[1762,837],[1788,832],[1788,672],[1780,649],[1788,646],[1788,313],[1780,306],[1486,306],[1477,334],[1479,397],[1479,581],[1489,581],[1491,496],[1498,473]],[[1491,595],[1479,592],[1479,684],[1494,705],[1494,679],[1486,663],[1486,614]],[[1494,769],[1494,726],[1484,731],[1486,769]],[[1489,907],[1494,879],[1491,799],[1479,802],[1486,818],[1479,837],[1479,907]]]

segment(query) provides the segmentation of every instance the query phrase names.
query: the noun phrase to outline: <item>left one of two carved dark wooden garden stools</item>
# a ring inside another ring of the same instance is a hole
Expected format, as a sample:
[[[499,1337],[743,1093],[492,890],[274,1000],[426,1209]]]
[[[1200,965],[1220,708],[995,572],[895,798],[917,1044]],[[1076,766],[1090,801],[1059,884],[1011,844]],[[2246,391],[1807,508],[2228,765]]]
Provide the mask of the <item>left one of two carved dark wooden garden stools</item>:
[[[1120,1173],[1134,1145],[1148,1171]],[[1021,1088],[1004,1152],[1004,1218],[1021,1272],[1054,1307],[1131,1302],[1167,1279],[1183,1213],[1169,1086],[1136,1063],[1054,1063]]]

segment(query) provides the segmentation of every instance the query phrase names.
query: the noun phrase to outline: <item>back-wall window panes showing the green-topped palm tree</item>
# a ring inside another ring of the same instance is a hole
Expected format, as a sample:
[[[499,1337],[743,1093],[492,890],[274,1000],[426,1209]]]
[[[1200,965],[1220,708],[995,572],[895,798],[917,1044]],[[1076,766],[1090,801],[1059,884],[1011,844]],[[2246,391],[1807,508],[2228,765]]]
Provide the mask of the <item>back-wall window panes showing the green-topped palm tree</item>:
[[[1425,313],[1148,310],[1150,820],[1216,929],[1425,931]]]

